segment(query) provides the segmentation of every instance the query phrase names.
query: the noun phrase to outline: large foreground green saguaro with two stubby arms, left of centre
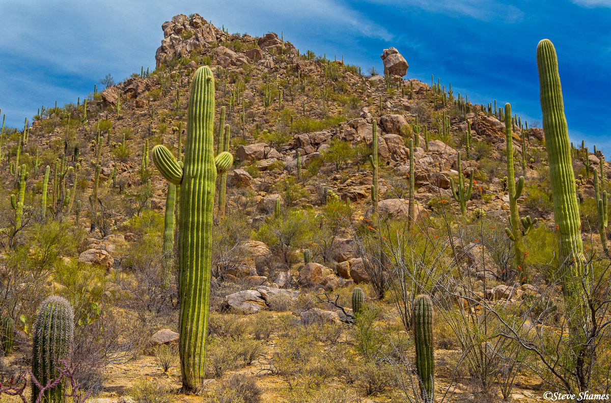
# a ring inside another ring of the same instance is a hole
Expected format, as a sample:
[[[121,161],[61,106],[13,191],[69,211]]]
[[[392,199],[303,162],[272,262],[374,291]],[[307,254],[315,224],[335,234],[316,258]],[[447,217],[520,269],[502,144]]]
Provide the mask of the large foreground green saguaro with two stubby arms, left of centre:
[[[183,389],[202,386],[208,325],[212,211],[217,170],[229,169],[233,157],[214,158],[214,76],[197,69],[189,96],[185,164],[163,145],[153,148],[153,161],[167,181],[180,186],[178,222],[178,289],[180,292],[180,367]]]

